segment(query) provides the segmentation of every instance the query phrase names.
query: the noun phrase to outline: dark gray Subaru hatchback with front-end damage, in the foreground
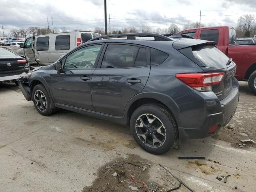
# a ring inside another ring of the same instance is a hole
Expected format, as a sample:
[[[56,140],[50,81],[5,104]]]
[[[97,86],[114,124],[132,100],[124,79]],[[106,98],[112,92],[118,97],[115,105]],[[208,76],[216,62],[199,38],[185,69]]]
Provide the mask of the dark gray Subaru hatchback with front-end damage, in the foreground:
[[[113,36],[125,38],[102,39]],[[216,134],[234,115],[236,64],[214,44],[178,35],[101,36],[36,68],[20,88],[42,115],[63,108],[126,124],[144,150],[163,154],[178,139]]]

